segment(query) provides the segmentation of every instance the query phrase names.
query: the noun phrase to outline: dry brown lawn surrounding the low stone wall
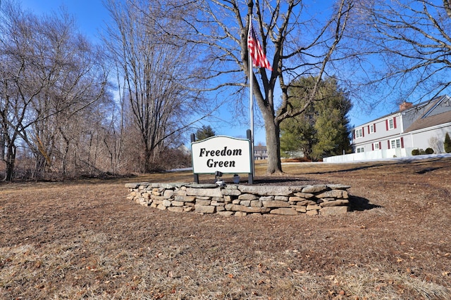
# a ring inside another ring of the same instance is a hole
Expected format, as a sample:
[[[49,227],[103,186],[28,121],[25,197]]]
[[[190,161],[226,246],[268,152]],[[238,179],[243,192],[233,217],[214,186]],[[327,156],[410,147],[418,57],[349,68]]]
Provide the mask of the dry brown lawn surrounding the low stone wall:
[[[280,184],[352,185],[353,210],[221,217],[125,199],[127,182],[187,172],[1,183],[0,298],[451,299],[451,159],[284,170]]]

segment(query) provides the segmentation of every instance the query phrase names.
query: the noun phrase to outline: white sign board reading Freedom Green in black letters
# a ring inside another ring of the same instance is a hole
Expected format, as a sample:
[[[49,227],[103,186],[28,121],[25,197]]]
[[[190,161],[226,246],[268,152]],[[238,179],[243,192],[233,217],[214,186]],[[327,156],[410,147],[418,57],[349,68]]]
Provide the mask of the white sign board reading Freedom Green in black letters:
[[[252,173],[251,143],[247,139],[212,136],[191,143],[194,174]]]

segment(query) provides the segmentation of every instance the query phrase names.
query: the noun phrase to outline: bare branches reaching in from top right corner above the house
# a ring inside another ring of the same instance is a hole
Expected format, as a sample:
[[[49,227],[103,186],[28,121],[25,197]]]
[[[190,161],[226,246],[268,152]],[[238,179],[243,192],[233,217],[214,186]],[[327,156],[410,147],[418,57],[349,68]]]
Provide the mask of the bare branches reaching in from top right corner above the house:
[[[368,0],[352,22],[354,44],[381,67],[370,68],[370,84],[398,102],[431,99],[451,84],[451,2]],[[359,39],[359,41],[356,41]]]

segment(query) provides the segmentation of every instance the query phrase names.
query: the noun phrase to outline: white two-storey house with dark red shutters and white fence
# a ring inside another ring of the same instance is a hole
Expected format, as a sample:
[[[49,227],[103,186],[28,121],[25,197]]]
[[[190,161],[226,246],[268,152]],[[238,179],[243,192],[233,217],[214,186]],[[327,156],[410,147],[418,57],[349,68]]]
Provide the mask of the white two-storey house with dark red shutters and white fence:
[[[451,134],[451,98],[438,96],[413,105],[404,102],[397,112],[352,130],[351,155],[327,157],[325,162],[412,156],[412,150],[443,152],[445,134]]]

